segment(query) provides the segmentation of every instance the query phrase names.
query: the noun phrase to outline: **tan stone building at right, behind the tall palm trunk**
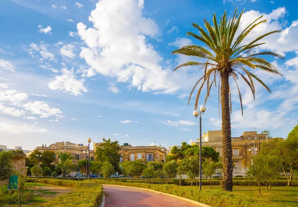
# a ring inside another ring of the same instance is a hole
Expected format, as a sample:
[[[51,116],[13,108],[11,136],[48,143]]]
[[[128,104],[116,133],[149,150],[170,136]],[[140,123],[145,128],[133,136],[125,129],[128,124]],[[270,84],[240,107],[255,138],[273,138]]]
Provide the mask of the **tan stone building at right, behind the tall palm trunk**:
[[[268,138],[269,139],[269,138]],[[235,165],[234,175],[245,175],[252,163],[252,157],[261,150],[260,145],[267,141],[266,134],[258,134],[256,131],[245,131],[239,137],[232,137],[232,159]],[[192,142],[192,145],[200,145],[200,139]],[[223,156],[222,130],[204,132],[202,146],[214,147]]]

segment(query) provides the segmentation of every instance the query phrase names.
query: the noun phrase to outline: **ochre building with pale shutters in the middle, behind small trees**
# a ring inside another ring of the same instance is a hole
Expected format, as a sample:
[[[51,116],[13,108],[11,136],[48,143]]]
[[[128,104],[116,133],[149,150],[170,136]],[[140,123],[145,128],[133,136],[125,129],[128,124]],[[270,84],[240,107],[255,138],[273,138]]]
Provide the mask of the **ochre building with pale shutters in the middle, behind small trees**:
[[[100,147],[101,143],[94,143],[94,149]],[[165,148],[160,146],[132,146],[124,143],[121,146],[118,154],[120,155],[120,162],[141,160],[144,162],[157,161],[164,162]]]

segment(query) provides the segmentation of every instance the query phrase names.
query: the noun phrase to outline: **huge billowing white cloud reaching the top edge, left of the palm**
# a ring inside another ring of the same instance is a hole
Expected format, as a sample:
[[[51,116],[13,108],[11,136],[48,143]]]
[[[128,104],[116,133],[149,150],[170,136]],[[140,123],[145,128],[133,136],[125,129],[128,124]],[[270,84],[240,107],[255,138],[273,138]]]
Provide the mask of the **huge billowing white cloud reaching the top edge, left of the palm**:
[[[97,73],[129,82],[143,92],[175,93],[187,82],[187,75],[162,70],[162,57],[147,38],[157,37],[159,28],[142,15],[143,8],[142,0],[98,1],[89,16],[93,27],[77,24],[78,34],[87,45],[81,47],[80,57]],[[113,26],[108,26],[110,22]]]

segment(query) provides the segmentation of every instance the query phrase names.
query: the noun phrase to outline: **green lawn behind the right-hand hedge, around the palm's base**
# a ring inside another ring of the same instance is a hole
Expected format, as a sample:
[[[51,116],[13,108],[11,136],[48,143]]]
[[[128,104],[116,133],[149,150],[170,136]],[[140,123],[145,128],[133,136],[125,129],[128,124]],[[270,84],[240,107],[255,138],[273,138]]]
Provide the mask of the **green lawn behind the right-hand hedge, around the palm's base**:
[[[203,190],[210,190],[210,186],[202,186]],[[212,186],[212,189],[221,190],[221,186]],[[298,187],[272,187],[265,191],[265,187],[261,187],[261,194],[257,186],[233,186],[233,192],[242,194],[250,198],[267,199],[282,207],[298,207]]]

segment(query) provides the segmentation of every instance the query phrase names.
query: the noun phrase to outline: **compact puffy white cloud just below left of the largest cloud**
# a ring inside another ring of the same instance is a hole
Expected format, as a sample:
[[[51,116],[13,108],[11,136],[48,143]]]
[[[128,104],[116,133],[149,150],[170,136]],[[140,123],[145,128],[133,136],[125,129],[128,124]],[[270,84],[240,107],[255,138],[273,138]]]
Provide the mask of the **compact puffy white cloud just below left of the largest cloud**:
[[[74,96],[82,95],[81,92],[87,92],[88,90],[84,87],[84,79],[77,80],[74,75],[74,69],[68,70],[67,68],[62,69],[62,75],[56,75],[54,79],[49,83],[51,90],[60,90],[65,93],[73,94]]]

